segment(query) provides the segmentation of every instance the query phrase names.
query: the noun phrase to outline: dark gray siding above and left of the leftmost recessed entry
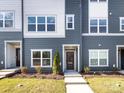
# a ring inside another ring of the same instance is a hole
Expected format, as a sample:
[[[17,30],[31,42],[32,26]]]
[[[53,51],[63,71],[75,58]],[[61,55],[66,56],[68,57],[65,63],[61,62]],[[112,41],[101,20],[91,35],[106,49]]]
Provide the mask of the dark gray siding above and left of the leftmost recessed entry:
[[[5,65],[5,64],[1,64],[1,61],[3,61],[3,63],[5,62],[4,41],[5,40],[21,40],[21,39],[22,39],[21,32],[0,32],[0,69],[4,68],[4,65]]]

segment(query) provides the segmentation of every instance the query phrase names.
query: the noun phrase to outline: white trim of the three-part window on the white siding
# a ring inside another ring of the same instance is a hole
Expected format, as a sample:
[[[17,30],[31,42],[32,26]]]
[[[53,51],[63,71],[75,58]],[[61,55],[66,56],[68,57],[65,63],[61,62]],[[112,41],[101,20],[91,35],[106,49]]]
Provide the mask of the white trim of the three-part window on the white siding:
[[[30,24],[30,23],[28,23],[28,17],[35,17],[36,18],[36,24],[35,23],[33,23],[33,24],[35,24],[36,25],[36,31],[28,31],[28,25]],[[37,29],[37,26],[38,26],[38,22],[37,22],[37,18],[38,17],[45,17],[45,31],[38,31],[38,29]],[[55,31],[47,31],[47,17],[55,17]],[[27,16],[27,31],[29,32],[29,33],[34,33],[34,32],[36,32],[36,33],[55,33],[55,32],[57,32],[57,16],[56,15],[40,15],[40,16]]]

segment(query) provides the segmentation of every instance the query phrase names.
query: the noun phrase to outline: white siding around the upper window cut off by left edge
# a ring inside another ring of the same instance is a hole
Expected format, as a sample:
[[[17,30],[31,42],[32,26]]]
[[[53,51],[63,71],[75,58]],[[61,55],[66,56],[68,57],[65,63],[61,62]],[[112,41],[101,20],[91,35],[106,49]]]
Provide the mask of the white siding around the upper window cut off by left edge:
[[[21,31],[21,0],[0,0],[0,11],[14,11],[14,28],[1,31]]]

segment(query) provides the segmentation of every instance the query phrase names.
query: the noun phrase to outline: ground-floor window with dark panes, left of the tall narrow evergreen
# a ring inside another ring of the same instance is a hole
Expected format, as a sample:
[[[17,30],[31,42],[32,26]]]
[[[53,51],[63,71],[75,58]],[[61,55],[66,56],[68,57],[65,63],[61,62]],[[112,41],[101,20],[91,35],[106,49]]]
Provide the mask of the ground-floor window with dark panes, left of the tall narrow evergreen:
[[[52,66],[52,50],[32,50],[31,66],[51,67]]]

